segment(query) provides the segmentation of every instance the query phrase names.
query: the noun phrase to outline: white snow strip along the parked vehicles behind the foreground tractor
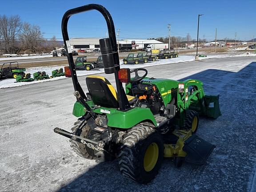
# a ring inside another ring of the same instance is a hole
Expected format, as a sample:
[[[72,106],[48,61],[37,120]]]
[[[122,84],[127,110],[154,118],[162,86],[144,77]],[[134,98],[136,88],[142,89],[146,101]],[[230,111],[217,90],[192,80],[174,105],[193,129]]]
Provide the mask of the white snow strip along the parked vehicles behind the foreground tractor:
[[[220,57],[236,57],[236,56],[256,56],[254,53],[244,53],[244,54],[239,54],[239,55],[228,55],[228,54],[221,54],[221,55],[208,55],[207,57],[199,57],[199,60],[203,59],[211,59],[211,58],[220,58]],[[11,57],[12,58],[12,57]],[[23,57],[24,58],[24,57]],[[181,62],[187,62],[187,61],[194,61],[195,56],[179,56],[178,58],[172,58],[172,59],[161,59],[155,62],[148,62],[147,64],[123,64],[123,61],[120,60],[121,68],[144,68],[144,67],[149,67],[149,66],[157,66],[157,65],[163,65],[163,64],[174,64],[174,63],[181,63]],[[52,71],[58,68],[64,68],[63,66],[45,66],[45,67],[35,67],[35,68],[27,68],[26,73],[30,73],[31,76],[34,72],[38,71],[45,71],[46,74],[49,76],[52,75]],[[102,73],[104,72],[104,68],[96,68],[92,69],[91,71],[86,71],[86,70],[77,70],[77,76],[86,76],[86,75],[92,75],[92,74],[97,74],[97,73]],[[1,88],[10,88],[10,87],[18,87],[26,84],[35,84],[35,83],[41,83],[45,81],[52,81],[52,80],[60,80],[67,78],[65,76],[61,77],[56,77],[48,80],[40,80],[40,81],[32,81],[32,82],[20,82],[20,83],[15,83],[15,79],[4,79],[0,80],[0,89]]]

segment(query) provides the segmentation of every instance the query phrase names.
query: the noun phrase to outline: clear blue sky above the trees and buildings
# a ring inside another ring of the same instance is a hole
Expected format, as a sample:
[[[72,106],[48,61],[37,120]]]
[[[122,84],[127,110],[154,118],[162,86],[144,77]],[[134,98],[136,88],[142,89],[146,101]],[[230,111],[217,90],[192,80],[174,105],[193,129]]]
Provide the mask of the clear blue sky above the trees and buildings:
[[[0,15],[20,15],[22,21],[37,24],[44,38],[62,38],[61,19],[68,9],[85,4],[102,4],[111,13],[122,38],[185,37],[196,39],[197,15],[199,36],[207,40],[256,38],[256,0],[3,0]],[[70,37],[106,36],[104,18],[96,11],[72,16],[68,24]]]

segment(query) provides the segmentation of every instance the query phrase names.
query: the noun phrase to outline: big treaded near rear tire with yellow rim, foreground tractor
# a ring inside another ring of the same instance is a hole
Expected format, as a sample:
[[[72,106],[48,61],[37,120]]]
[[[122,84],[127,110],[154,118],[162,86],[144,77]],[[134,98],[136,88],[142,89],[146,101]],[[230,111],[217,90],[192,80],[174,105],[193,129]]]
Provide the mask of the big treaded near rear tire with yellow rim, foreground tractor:
[[[118,154],[121,173],[140,184],[146,184],[158,174],[164,157],[162,136],[155,129],[136,125],[121,141]]]

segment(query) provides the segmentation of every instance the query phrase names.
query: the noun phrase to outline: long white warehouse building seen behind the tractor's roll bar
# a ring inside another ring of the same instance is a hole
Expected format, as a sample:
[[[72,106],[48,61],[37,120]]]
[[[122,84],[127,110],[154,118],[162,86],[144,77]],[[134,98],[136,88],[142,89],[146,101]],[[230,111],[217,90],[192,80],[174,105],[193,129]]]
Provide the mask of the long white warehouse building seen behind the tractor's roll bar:
[[[99,38],[72,38],[69,40],[71,48],[75,51],[80,50],[93,50],[100,49]],[[147,39],[136,39],[136,40],[120,40],[117,41],[119,44],[119,49],[143,49],[148,46],[148,44],[163,44],[158,40],[147,40]]]

